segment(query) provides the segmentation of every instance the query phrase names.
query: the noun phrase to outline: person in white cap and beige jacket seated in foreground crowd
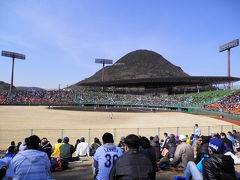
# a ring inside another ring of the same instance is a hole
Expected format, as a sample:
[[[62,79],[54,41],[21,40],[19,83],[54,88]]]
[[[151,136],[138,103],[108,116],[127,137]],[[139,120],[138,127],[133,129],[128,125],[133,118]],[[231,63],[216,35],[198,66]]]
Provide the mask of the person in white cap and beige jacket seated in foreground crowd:
[[[188,161],[194,161],[193,149],[190,144],[186,143],[186,136],[180,135],[181,143],[177,146],[174,159],[170,162],[173,167],[185,168]]]

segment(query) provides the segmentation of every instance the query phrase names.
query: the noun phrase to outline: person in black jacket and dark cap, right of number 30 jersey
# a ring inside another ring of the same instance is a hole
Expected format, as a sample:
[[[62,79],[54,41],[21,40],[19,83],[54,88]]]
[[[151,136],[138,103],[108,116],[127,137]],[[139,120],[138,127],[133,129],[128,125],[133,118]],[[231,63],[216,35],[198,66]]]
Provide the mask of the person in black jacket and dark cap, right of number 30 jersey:
[[[152,162],[138,151],[138,136],[128,135],[125,144],[125,154],[114,164],[110,179],[155,179],[155,169]]]

